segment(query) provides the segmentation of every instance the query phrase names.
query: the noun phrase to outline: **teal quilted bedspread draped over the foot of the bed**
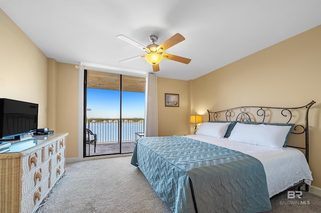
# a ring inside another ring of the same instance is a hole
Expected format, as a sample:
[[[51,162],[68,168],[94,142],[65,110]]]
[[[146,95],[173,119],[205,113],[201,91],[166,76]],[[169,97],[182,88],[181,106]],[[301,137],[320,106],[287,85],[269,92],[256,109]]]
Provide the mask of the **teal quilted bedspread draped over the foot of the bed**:
[[[173,212],[271,209],[262,163],[239,151],[182,136],[145,137],[131,164]]]

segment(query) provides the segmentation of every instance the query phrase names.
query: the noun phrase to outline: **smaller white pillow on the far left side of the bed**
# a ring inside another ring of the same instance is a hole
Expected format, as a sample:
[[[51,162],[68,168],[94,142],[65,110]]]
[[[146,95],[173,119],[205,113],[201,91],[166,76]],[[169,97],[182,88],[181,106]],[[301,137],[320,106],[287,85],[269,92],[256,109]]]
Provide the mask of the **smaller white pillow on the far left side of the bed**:
[[[226,123],[204,122],[200,124],[200,127],[197,130],[196,134],[223,138],[229,125],[230,125],[230,122],[226,122]]]

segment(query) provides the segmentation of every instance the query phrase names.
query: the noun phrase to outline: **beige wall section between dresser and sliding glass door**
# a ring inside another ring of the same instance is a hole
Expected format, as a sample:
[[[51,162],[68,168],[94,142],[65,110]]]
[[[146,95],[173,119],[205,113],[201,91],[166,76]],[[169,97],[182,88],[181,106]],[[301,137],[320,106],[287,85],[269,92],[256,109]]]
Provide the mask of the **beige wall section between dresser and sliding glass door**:
[[[77,158],[78,69],[74,64],[60,63],[48,58],[47,96],[47,126],[55,132],[68,132],[66,158]]]

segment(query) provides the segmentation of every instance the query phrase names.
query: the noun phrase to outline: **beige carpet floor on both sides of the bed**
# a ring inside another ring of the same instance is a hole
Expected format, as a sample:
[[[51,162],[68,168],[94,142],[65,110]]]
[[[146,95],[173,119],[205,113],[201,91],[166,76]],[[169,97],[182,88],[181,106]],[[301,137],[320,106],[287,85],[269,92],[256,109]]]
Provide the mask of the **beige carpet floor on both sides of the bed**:
[[[121,156],[66,164],[66,176],[39,213],[172,212],[130,159]],[[271,203],[269,212],[321,212],[321,197],[309,192],[303,192],[300,200],[284,194]]]

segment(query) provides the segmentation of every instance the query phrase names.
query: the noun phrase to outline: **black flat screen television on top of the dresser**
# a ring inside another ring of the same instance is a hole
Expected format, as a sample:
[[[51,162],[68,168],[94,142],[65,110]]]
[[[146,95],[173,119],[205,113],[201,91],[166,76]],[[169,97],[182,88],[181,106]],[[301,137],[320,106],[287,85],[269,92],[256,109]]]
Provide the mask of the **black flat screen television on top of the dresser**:
[[[20,139],[38,128],[38,104],[0,98],[0,138]]]

